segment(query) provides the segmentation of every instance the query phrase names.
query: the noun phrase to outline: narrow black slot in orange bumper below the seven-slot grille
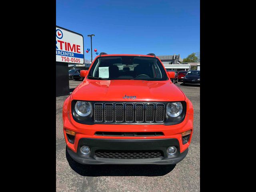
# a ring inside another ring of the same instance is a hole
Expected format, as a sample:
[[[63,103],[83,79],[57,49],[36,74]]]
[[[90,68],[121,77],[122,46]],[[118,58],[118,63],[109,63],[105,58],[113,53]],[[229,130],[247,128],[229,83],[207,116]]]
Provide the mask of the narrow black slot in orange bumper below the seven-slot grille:
[[[97,136],[123,136],[123,137],[148,137],[148,136],[164,136],[163,132],[95,132]]]

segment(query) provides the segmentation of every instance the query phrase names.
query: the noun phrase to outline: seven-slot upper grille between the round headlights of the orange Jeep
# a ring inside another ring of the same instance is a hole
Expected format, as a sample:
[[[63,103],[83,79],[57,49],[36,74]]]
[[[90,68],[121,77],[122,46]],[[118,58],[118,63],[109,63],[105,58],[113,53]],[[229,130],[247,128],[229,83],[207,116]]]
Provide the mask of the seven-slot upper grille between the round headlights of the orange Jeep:
[[[163,103],[94,103],[94,122],[163,123]]]

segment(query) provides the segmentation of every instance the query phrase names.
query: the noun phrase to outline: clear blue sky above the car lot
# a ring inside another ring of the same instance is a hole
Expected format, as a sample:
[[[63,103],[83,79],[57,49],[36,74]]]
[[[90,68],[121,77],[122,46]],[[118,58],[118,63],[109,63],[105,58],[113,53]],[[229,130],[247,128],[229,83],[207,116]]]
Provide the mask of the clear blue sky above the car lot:
[[[84,36],[107,54],[200,52],[200,0],[56,0],[56,25]],[[96,57],[93,51],[92,58]]]

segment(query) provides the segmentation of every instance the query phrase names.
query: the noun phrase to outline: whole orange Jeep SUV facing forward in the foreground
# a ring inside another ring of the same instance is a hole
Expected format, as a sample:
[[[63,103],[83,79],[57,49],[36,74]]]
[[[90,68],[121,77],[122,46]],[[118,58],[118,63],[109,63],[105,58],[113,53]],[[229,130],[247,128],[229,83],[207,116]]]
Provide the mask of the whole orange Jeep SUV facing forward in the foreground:
[[[65,100],[63,131],[81,164],[176,164],[188,153],[193,106],[155,54],[97,56]]]

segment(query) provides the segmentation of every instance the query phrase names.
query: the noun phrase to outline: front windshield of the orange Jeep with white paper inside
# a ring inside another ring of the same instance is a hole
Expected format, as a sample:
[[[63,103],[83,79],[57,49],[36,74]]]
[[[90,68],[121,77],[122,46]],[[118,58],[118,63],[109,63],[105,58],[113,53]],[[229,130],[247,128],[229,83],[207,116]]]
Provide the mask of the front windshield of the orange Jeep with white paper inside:
[[[166,72],[157,58],[142,56],[104,56],[98,57],[88,79],[107,80],[168,80]]]

